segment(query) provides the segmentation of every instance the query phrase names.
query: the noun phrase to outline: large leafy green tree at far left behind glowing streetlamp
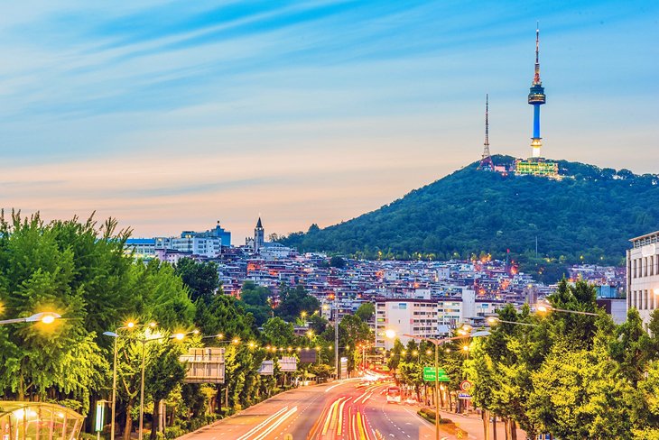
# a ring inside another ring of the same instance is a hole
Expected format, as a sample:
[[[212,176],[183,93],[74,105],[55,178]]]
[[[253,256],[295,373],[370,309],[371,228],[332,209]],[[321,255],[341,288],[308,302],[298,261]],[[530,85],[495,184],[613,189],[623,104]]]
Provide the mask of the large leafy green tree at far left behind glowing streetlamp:
[[[88,318],[87,299],[96,295],[100,286],[112,284],[101,280],[105,274],[116,270],[121,276],[125,269],[108,255],[121,249],[124,235],[111,236],[114,223],[106,226],[107,239],[95,242],[90,238],[97,234],[91,219],[86,224],[74,218],[44,225],[39,214],[22,218],[20,213],[12,213],[10,220],[4,213],[0,215],[0,300],[4,317],[31,316],[48,310],[66,318],[51,325],[0,329],[0,387],[5,396],[73,399],[79,402],[79,411],[87,413],[89,397],[100,390],[108,369],[97,334],[89,329],[97,325]],[[113,240],[119,244],[110,243]],[[86,246],[90,246],[89,258],[77,259]],[[108,267],[95,265],[95,257],[107,261]],[[125,299],[123,293],[118,296],[119,301]],[[116,299],[109,301],[109,307],[114,304]],[[107,311],[98,317],[103,323],[115,316],[116,311]]]

